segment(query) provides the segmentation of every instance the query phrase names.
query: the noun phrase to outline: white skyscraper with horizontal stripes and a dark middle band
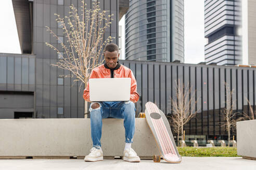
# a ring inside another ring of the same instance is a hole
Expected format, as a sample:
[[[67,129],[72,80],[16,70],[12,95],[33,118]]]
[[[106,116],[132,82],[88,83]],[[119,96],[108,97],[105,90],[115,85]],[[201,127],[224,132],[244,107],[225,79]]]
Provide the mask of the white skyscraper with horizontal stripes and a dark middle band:
[[[204,1],[204,36],[208,43],[204,47],[207,64],[241,64],[241,2]]]

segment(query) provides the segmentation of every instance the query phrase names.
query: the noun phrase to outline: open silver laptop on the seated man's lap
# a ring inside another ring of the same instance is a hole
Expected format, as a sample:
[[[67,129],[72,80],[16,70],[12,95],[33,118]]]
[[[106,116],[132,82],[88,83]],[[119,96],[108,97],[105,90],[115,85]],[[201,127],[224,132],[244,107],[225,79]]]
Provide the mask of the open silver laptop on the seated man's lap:
[[[90,101],[129,101],[131,78],[89,79]]]

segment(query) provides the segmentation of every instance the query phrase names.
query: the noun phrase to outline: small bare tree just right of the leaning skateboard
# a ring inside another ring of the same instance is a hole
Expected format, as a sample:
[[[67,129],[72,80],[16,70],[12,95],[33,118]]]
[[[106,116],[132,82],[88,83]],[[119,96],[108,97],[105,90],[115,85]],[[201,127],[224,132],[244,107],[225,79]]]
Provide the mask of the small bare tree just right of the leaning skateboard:
[[[176,82],[175,98],[171,98],[172,114],[170,118],[173,130],[177,133],[177,142],[180,143],[180,133],[183,136],[184,125],[193,117],[196,116],[196,103],[195,92],[189,88],[188,84],[184,87],[180,83],[180,79]]]

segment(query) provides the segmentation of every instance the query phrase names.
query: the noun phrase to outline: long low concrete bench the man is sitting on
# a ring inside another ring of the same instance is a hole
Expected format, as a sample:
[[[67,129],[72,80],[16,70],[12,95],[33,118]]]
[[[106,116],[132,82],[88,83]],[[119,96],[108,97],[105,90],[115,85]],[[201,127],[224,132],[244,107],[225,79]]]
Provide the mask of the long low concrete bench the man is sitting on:
[[[141,159],[159,154],[145,118],[136,118],[132,148]],[[0,158],[79,157],[92,148],[89,119],[0,119]],[[103,119],[104,157],[122,157],[122,119]]]

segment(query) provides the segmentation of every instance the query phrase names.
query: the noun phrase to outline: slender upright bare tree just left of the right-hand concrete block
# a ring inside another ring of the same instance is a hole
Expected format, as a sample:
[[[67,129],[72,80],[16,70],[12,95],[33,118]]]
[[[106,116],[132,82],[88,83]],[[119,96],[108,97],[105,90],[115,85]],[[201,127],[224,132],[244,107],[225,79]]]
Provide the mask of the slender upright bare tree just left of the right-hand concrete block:
[[[234,127],[236,125],[236,120],[234,119],[234,117],[236,116],[237,112],[233,111],[234,108],[234,103],[235,101],[232,100],[232,96],[234,93],[234,89],[230,89],[229,85],[227,82],[225,82],[225,89],[226,89],[226,107],[224,108],[224,110],[222,110],[222,117],[225,120],[225,123],[222,126],[225,126],[226,131],[228,133],[228,146],[230,143],[230,131],[231,128]]]

